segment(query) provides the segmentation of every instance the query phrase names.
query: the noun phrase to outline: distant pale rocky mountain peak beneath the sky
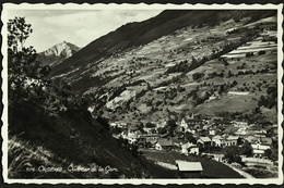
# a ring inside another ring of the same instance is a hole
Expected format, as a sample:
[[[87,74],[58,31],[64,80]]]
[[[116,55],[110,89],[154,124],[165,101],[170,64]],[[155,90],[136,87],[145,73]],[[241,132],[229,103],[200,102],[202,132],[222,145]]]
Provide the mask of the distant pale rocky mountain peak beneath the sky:
[[[56,66],[60,64],[62,61],[64,61],[66,59],[72,57],[79,50],[80,48],[76,47],[75,45],[63,41],[61,43],[55,45],[54,47],[47,49],[46,51],[38,53],[37,59],[44,65]]]

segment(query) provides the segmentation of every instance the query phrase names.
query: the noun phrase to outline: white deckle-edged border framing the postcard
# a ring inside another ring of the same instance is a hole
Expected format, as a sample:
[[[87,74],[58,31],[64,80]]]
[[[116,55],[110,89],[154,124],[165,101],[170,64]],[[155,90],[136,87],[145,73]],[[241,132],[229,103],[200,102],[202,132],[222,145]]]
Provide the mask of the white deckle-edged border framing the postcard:
[[[279,87],[279,178],[265,178],[265,179],[9,179],[8,178],[8,93],[7,93],[7,88],[8,88],[8,68],[7,68],[7,13],[9,10],[157,10],[157,9],[175,9],[175,10],[277,10],[277,87]],[[283,29],[282,29],[282,23],[283,23],[283,15],[282,15],[282,9],[283,4],[74,4],[74,3],[67,3],[67,4],[61,4],[61,3],[56,3],[56,4],[44,4],[44,3],[38,3],[38,4],[28,4],[28,3],[22,3],[22,4],[13,4],[13,3],[4,3],[3,4],[3,11],[1,14],[1,21],[3,23],[3,27],[1,30],[1,35],[3,36],[3,42],[2,42],[2,48],[1,52],[3,54],[3,70],[1,73],[1,76],[3,78],[2,82],[2,91],[3,91],[3,113],[1,116],[1,120],[3,122],[2,126],[2,131],[1,136],[3,138],[3,143],[2,143],[2,151],[3,151],[3,156],[2,156],[2,165],[3,165],[3,179],[4,183],[8,184],[14,184],[14,183],[20,183],[20,184],[105,184],[105,185],[114,185],[114,184],[132,184],[132,185],[151,185],[151,184],[159,184],[159,185],[167,185],[167,184],[177,184],[177,185],[182,185],[182,184],[262,184],[262,185],[281,185],[283,184],[283,172],[282,172],[282,165],[283,165],[283,156],[282,156],[282,139],[283,139],[283,128],[281,126],[281,123],[283,122],[283,115],[282,115],[282,96],[283,96],[283,84],[281,83],[282,76],[283,76],[283,67],[282,67],[282,61],[283,61],[283,43],[282,43],[282,36],[283,36]]]

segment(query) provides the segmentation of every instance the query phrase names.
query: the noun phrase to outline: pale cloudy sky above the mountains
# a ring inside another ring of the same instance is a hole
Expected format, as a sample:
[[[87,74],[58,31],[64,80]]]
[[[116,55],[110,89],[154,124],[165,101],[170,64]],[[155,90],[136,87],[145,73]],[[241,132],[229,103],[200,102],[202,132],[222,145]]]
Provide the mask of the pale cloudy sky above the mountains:
[[[62,41],[84,47],[129,22],[141,22],[162,10],[10,10],[8,18],[24,16],[33,34],[25,46],[37,52]]]

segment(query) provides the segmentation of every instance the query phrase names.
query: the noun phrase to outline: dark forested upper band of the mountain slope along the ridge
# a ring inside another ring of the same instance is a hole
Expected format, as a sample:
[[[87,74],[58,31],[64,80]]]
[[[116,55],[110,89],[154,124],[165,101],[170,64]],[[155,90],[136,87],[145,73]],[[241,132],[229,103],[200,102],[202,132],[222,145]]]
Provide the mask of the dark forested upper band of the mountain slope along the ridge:
[[[275,11],[177,11],[167,10],[155,17],[140,23],[129,23],[87,45],[79,53],[56,66],[51,76],[64,74],[128,48],[149,43],[164,35],[186,26],[201,27],[223,21],[251,17],[251,21],[274,15]],[[72,67],[71,67],[72,66]]]

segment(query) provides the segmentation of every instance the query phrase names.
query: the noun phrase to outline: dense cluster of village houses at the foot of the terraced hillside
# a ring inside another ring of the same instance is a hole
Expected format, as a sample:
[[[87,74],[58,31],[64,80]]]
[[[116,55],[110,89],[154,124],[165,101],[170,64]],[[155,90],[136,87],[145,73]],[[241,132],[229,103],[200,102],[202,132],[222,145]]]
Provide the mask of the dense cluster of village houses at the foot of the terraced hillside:
[[[177,127],[174,130],[176,136],[157,134],[157,128],[166,126],[166,122],[157,124],[153,128],[142,127],[143,130],[135,125],[110,125],[121,126],[122,131],[115,137],[127,139],[129,143],[155,150],[174,150],[186,155],[200,154],[201,148],[240,146],[248,141],[252,147],[253,158],[263,158],[265,150],[271,149],[273,139],[277,139],[276,125],[262,127],[225,118],[201,120],[193,115],[187,116],[176,124]],[[272,129],[273,136],[268,136],[269,128]],[[185,135],[185,133],[190,133],[194,141],[188,141],[185,137],[177,136]]]

